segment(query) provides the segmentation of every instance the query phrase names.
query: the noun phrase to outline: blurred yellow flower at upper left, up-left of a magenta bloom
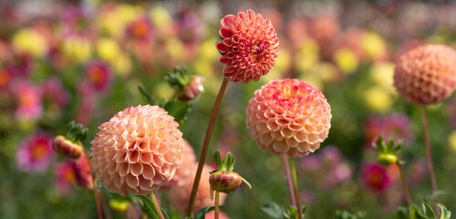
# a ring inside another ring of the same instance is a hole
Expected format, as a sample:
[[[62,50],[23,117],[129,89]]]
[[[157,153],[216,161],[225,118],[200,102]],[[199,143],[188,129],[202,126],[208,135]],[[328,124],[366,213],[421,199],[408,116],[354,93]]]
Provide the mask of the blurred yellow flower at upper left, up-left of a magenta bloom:
[[[68,36],[63,41],[63,52],[69,60],[86,62],[92,56],[92,45],[87,38]]]

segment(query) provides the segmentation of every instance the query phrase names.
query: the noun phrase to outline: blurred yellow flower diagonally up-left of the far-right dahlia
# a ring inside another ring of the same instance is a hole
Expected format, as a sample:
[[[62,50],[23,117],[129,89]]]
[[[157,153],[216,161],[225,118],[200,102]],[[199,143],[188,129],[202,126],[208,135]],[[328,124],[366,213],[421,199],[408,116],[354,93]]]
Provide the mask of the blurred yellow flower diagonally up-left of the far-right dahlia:
[[[361,47],[368,57],[376,59],[387,54],[387,46],[381,36],[374,32],[365,32],[361,41]]]

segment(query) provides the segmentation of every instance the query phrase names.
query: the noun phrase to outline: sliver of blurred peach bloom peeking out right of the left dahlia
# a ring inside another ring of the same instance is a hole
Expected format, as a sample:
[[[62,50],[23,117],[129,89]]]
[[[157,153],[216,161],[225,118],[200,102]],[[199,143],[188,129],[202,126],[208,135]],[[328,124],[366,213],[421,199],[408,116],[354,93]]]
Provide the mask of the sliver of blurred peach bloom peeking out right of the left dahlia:
[[[191,181],[193,171],[197,168],[196,155],[188,141],[184,140],[182,146],[182,163],[176,169],[171,181],[165,183],[161,188],[170,189],[174,186],[182,186]]]

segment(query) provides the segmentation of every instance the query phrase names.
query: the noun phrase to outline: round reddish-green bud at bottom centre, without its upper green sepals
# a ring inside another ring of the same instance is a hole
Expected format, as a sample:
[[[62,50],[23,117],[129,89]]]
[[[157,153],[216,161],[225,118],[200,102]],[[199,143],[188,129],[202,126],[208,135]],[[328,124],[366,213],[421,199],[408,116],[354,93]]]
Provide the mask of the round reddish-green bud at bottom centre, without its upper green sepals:
[[[213,172],[209,177],[209,183],[214,191],[220,193],[232,193],[243,186],[242,177],[236,172]]]

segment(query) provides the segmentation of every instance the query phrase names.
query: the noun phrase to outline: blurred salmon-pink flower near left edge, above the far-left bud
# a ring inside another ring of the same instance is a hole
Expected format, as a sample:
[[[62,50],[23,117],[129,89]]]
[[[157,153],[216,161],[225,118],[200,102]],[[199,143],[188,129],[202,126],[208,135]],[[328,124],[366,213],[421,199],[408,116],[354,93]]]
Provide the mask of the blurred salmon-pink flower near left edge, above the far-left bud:
[[[43,112],[41,90],[26,81],[17,81],[15,86],[16,119],[38,120]]]

